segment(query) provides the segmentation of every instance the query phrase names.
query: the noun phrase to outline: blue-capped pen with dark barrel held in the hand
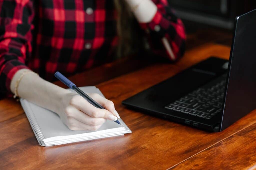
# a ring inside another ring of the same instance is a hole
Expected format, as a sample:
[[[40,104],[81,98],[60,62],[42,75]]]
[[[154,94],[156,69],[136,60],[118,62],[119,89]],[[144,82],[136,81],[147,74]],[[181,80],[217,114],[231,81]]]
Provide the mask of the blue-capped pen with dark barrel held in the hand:
[[[89,103],[91,103],[93,106],[105,109],[102,107],[99,103],[95,102],[90,96],[88,96],[86,93],[84,93],[81,89],[79,89],[76,84],[74,84],[72,81],[70,81],[67,77],[65,77],[63,74],[61,74],[59,71],[57,71],[55,74],[55,77],[62,81],[64,84],[66,84],[70,89],[73,89],[78,94],[80,94],[84,99],[86,99]],[[121,124],[119,120],[114,120],[114,122]]]

